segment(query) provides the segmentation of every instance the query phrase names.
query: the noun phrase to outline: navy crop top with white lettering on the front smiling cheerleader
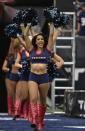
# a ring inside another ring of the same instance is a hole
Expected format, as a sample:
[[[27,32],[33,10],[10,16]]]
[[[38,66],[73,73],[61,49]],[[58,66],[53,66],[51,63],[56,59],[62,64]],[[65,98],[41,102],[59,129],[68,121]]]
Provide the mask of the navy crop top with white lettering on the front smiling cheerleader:
[[[51,57],[51,52],[47,48],[44,48],[41,54],[37,54],[34,48],[30,52],[31,63],[48,64],[50,57]]]

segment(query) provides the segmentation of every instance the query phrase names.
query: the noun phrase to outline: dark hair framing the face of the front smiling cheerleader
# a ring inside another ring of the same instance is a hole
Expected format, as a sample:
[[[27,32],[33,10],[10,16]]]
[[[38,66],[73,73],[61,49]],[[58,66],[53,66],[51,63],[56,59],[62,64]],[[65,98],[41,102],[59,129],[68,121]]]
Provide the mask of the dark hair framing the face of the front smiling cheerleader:
[[[37,39],[37,37],[38,37],[39,35],[44,38],[44,42],[45,42],[44,48],[47,46],[47,43],[48,43],[48,42],[47,42],[47,38],[45,37],[45,35],[44,35],[43,33],[39,33],[39,34],[35,35],[35,36],[32,38],[32,45],[33,45],[33,47],[34,47],[35,49],[37,49],[36,39]]]

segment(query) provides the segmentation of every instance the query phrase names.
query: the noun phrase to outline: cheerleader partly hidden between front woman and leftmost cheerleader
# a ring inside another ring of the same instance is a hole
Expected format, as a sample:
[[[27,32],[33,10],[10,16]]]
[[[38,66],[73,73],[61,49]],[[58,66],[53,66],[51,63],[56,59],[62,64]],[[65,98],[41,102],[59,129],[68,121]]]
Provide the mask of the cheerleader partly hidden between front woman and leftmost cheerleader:
[[[23,48],[23,47],[21,47]],[[21,49],[15,61],[15,66],[19,69],[20,79],[16,86],[15,118],[27,117],[28,113],[28,78],[29,78],[29,53]]]

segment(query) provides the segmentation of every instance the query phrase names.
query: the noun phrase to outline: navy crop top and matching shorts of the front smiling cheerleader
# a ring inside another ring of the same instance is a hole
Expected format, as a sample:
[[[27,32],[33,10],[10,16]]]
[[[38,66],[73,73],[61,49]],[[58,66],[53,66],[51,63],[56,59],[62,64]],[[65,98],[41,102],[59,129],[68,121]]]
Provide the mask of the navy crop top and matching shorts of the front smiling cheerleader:
[[[30,63],[31,64],[42,63],[42,64],[48,65],[50,56],[51,56],[51,53],[47,50],[47,48],[44,48],[42,53],[39,55],[36,54],[35,49],[32,49],[32,51],[30,52]],[[48,73],[37,75],[31,72],[29,76],[29,81],[30,80],[31,81],[33,80],[37,82],[38,84],[48,83],[49,82]]]

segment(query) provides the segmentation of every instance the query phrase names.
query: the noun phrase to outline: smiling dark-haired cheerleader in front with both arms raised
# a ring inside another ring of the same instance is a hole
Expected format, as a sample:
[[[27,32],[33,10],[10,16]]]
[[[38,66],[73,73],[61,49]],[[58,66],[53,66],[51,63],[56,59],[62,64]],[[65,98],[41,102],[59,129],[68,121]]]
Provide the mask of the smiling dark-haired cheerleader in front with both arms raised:
[[[28,29],[30,29],[28,27]],[[47,72],[48,59],[50,53],[53,50],[54,41],[54,25],[49,24],[49,38],[46,41],[43,34],[38,34],[33,37],[32,44],[28,39],[24,42],[20,37],[20,41],[23,45],[27,44],[30,52],[30,74],[29,74],[29,94],[30,94],[30,109],[32,116],[32,124],[35,125],[37,130],[42,130],[44,123],[44,115],[46,111],[46,97],[50,86],[49,76]],[[57,38],[58,33],[56,33]],[[49,50],[49,51],[48,51]],[[38,101],[38,92],[40,95],[40,101]],[[34,126],[33,126],[34,127]]]

